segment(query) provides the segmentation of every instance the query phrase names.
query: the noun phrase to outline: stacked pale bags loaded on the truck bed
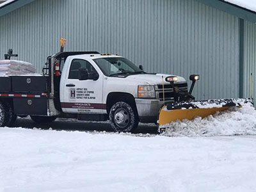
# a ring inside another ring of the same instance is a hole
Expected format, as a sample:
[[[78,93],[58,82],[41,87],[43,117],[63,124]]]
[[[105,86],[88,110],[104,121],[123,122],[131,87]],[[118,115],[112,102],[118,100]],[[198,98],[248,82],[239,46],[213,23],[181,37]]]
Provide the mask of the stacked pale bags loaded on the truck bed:
[[[0,76],[22,76],[35,74],[36,68],[28,62],[0,60]]]

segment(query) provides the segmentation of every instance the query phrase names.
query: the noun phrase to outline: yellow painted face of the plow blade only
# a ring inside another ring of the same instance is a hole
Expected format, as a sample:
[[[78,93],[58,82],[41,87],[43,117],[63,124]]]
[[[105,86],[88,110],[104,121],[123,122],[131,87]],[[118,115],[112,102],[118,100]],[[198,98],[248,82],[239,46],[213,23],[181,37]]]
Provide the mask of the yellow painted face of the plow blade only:
[[[166,124],[170,124],[171,122],[175,122],[177,120],[193,120],[196,116],[200,116],[205,118],[209,115],[214,115],[217,111],[226,111],[230,107],[223,108],[196,108],[196,109],[173,109],[170,111],[166,111],[164,106],[159,113],[159,126],[163,126]]]

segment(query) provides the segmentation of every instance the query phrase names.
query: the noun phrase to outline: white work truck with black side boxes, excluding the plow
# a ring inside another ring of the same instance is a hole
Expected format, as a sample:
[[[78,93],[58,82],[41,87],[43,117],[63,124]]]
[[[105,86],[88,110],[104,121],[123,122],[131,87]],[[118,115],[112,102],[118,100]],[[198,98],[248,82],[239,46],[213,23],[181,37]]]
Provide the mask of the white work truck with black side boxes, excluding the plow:
[[[164,101],[188,92],[183,77],[148,74],[122,56],[59,52],[47,58],[44,76],[0,77],[0,126],[17,116],[38,123],[58,118],[109,120],[114,131],[131,132],[138,122],[156,123]],[[163,92],[164,90],[164,92]]]

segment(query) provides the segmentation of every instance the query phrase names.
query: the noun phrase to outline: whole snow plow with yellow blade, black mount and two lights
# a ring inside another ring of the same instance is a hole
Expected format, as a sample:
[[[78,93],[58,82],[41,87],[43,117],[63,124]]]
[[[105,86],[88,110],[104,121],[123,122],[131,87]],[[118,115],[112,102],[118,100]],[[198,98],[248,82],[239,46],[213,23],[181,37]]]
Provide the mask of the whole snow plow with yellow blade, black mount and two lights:
[[[230,108],[243,107],[243,104],[250,102],[253,105],[253,99],[216,99],[216,100],[199,100],[191,94],[196,81],[200,79],[198,75],[191,75],[192,81],[189,92],[179,91],[175,88],[175,76],[166,77],[165,81],[172,84],[175,97],[174,102],[164,102],[159,111],[159,132],[163,132],[172,122],[177,120],[193,120],[196,117],[205,118],[214,115],[217,112],[226,111]]]

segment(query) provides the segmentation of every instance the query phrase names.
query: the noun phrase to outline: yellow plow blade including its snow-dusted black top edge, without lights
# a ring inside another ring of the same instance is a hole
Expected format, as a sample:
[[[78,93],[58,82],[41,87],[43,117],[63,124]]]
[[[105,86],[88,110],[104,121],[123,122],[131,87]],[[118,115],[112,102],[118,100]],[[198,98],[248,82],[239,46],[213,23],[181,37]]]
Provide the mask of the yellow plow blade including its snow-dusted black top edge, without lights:
[[[253,99],[220,99],[220,100],[203,100],[193,102],[172,102],[166,103],[159,112],[159,130],[163,131],[168,124],[177,120],[193,120],[197,116],[205,118],[214,115],[217,111],[226,111],[231,107],[243,107],[243,104]]]

